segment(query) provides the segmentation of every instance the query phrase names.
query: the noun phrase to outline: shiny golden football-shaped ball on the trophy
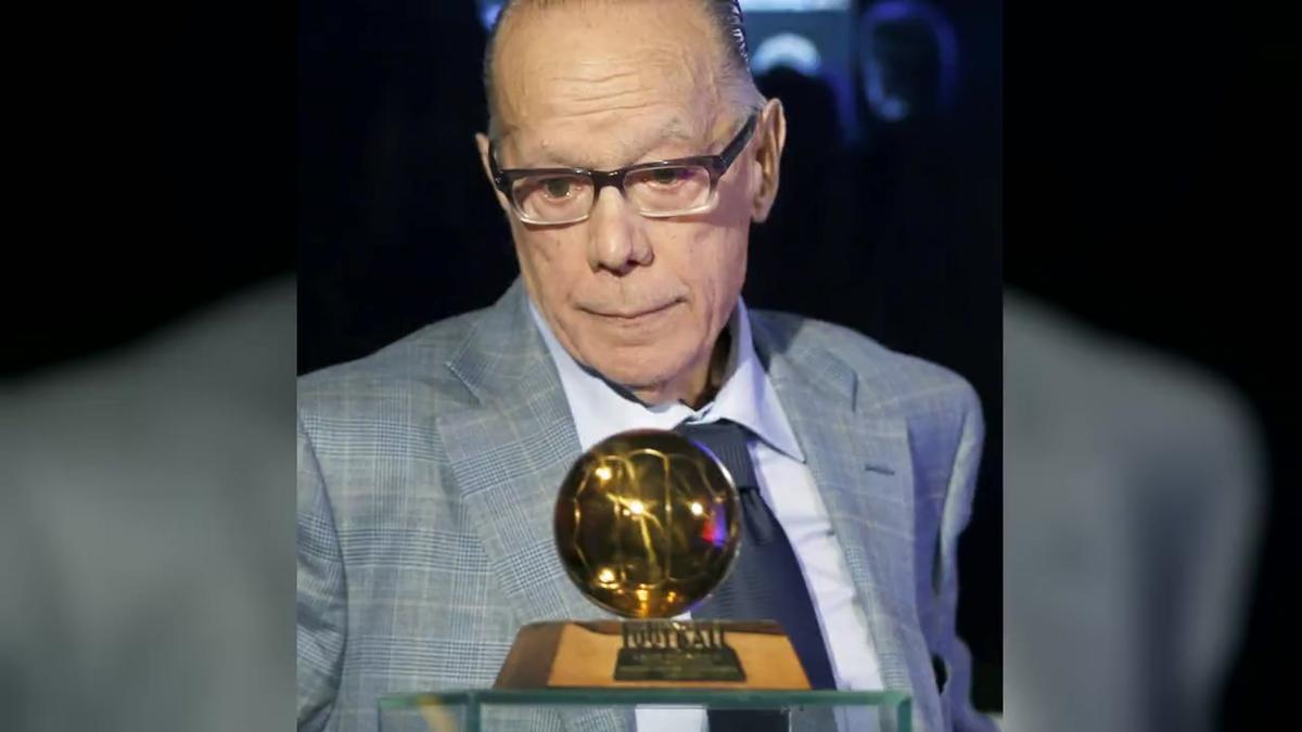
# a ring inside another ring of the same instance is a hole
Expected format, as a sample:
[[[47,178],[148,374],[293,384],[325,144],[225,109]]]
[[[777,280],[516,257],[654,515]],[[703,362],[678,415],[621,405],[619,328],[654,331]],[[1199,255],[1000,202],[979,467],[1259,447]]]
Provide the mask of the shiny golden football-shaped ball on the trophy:
[[[732,477],[677,432],[607,438],[556,498],[556,548],[592,602],[625,617],[673,617],[728,574],[741,538]]]

